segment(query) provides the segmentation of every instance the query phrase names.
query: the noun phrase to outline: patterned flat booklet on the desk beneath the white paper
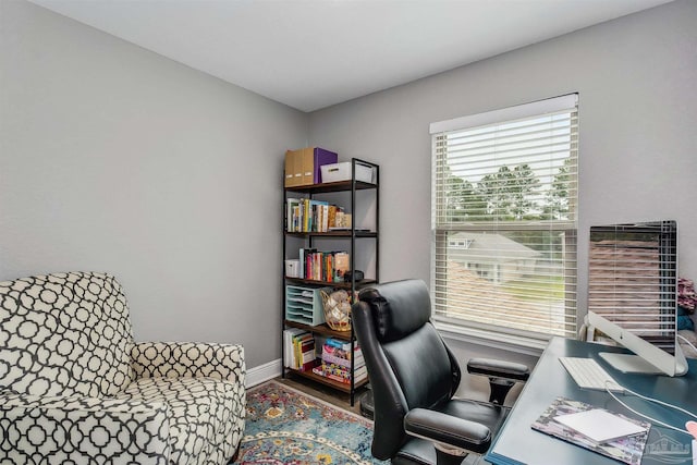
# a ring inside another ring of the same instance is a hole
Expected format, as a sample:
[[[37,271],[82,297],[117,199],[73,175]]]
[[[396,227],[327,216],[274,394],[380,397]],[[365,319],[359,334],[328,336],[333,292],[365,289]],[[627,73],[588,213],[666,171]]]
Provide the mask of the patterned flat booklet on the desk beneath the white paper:
[[[574,415],[578,414],[582,414],[582,416],[574,417]],[[589,430],[588,425],[584,424],[584,420],[588,419],[584,418],[587,415],[606,419],[602,420],[602,424],[599,424],[590,418],[590,427],[595,427],[595,430]],[[600,429],[611,426],[607,419],[610,417],[613,418],[612,424],[615,427],[611,428],[610,431],[600,431]],[[651,424],[648,421],[629,418],[585,402],[565,397],[557,397],[530,426],[533,429],[546,435],[629,465],[639,465],[641,463],[641,455],[651,428]],[[624,433],[619,432],[620,429]]]

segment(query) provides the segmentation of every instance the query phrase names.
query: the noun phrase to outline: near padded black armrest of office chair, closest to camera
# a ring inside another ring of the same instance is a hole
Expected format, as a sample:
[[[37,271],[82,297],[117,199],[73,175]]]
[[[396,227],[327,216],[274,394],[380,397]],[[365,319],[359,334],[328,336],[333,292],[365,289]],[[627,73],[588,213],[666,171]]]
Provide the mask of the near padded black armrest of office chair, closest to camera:
[[[404,417],[404,430],[447,450],[482,454],[491,443],[491,431],[486,426],[427,408],[409,411]]]

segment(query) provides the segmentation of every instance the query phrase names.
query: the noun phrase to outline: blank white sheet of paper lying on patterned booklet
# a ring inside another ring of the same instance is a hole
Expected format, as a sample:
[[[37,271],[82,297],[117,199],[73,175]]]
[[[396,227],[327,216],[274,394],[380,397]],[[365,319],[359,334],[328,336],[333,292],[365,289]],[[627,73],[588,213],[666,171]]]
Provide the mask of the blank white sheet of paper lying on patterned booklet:
[[[560,415],[554,417],[554,420],[573,428],[599,444],[646,431],[646,428],[601,408]]]

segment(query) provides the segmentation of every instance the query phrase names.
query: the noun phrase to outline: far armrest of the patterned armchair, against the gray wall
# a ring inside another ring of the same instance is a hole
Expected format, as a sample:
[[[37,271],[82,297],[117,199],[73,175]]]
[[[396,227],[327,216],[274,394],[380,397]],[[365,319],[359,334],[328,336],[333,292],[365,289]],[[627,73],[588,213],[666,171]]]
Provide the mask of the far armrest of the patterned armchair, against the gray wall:
[[[139,342],[131,351],[136,378],[208,377],[245,382],[241,344],[204,342]]]

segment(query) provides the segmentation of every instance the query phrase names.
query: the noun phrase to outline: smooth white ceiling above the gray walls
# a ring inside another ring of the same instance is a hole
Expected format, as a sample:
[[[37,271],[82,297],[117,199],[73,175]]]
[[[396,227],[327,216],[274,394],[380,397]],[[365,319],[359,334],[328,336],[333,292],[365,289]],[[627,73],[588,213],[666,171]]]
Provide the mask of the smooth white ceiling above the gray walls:
[[[313,111],[670,0],[30,1]]]

